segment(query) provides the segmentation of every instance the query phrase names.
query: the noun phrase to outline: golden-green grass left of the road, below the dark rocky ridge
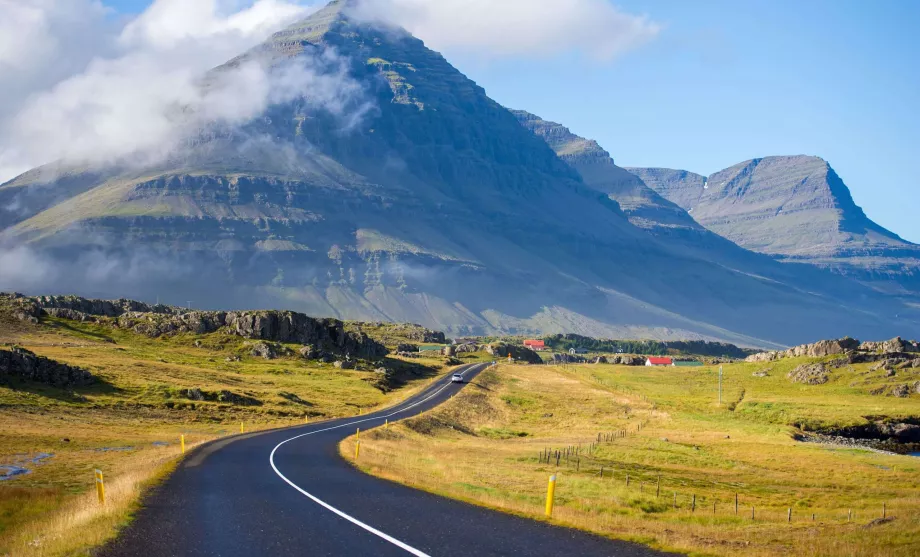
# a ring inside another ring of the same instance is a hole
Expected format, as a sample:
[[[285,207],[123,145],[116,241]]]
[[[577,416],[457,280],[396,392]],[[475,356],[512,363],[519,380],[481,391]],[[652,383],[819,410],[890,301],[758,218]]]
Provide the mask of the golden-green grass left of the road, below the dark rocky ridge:
[[[444,371],[440,357],[387,358],[384,365],[399,372],[388,390],[370,362],[343,370],[296,357],[264,360],[249,354],[244,339],[220,332],[152,339],[8,315],[0,315],[3,344],[100,379],[72,392],[0,385],[0,473],[4,465],[29,471],[0,481],[0,555],[16,556],[86,554],[112,537],[143,490],[176,465],[180,435],[191,448],[238,433],[241,423],[248,432],[352,416],[405,398]],[[290,348],[296,354],[299,346]],[[206,400],[194,400],[189,389]],[[96,501],[95,469],[106,479],[105,507]]]

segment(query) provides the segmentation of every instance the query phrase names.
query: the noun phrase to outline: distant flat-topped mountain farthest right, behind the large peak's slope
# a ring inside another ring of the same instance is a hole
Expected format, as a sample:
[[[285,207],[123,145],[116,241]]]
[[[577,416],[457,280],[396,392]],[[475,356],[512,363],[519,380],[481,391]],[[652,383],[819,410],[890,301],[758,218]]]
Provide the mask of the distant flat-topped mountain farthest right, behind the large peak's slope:
[[[629,169],[697,222],[747,249],[809,263],[895,294],[920,292],[920,246],[869,219],[818,157],[766,157],[708,178]]]

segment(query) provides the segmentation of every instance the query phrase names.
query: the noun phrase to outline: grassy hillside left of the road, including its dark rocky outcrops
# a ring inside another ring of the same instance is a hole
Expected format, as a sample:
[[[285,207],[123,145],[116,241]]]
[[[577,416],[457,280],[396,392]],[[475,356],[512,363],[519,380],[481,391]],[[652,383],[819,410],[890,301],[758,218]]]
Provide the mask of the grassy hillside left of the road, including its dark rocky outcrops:
[[[440,355],[386,354],[383,343],[431,333],[418,327],[266,311],[249,315],[254,328],[243,318],[215,329],[219,313],[0,294],[0,554],[101,545],[177,465],[180,436],[192,449],[241,427],[354,416],[447,370]]]

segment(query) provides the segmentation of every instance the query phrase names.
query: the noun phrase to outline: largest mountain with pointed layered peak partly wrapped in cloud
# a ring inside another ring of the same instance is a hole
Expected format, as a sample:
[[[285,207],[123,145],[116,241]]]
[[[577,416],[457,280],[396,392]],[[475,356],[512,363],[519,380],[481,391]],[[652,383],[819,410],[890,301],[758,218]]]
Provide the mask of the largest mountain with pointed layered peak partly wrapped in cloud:
[[[206,76],[203,87],[250,64],[320,74],[247,124],[205,127],[164,161],[57,165],[0,186],[16,207],[4,261],[22,262],[0,287],[456,334],[769,347],[917,331],[909,307],[869,289],[727,265],[635,226],[668,212],[694,225],[648,192],[654,218],[645,202],[621,207],[440,54],[351,6],[333,2]]]

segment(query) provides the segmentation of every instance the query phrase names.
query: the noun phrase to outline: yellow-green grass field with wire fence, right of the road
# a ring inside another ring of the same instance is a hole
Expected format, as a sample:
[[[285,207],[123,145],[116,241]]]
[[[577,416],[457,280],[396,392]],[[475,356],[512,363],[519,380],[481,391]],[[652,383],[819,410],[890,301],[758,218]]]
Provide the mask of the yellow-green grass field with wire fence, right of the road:
[[[362,436],[357,464],[538,519],[558,474],[552,521],[691,554],[917,555],[920,459],[793,434],[916,418],[920,398],[870,394],[893,379],[868,365],[792,383],[805,361],[726,365],[721,406],[717,367],[502,365],[444,406]],[[566,447],[577,456],[541,461]],[[353,440],[341,449],[351,459]]]

